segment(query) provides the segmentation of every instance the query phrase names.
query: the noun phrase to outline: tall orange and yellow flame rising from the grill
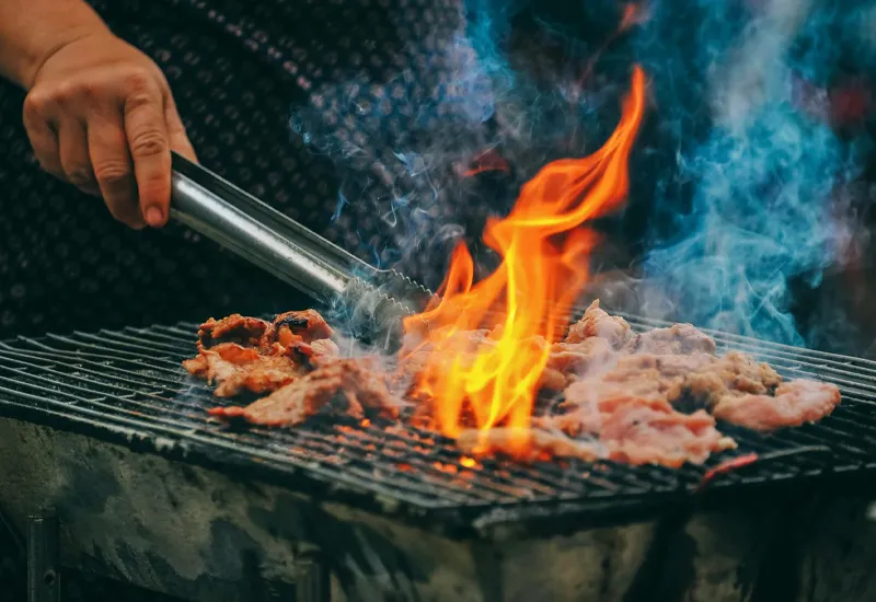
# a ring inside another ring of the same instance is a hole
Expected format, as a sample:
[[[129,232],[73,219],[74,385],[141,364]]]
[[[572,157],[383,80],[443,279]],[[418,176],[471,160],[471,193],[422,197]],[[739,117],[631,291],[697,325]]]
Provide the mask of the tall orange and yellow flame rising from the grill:
[[[405,333],[422,337],[415,352],[426,356],[417,393],[431,400],[445,435],[459,436],[463,420],[482,431],[504,424],[520,433],[514,450],[527,451],[550,344],[568,325],[567,309],[587,281],[597,242],[593,231],[579,227],[625,200],[627,158],[644,105],[645,74],[636,66],[621,121],[602,148],[548,164],[523,186],[507,218],[487,223],[484,242],[503,257],[498,269],[475,285],[474,263],[461,243],[440,300],[405,320]],[[480,340],[470,334],[497,323]]]

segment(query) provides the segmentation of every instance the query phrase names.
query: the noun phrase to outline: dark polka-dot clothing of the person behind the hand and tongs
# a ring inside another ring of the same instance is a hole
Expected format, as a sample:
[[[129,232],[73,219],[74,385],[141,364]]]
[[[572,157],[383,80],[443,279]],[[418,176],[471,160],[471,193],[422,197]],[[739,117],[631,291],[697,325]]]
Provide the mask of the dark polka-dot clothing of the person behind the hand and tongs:
[[[339,82],[356,82],[390,113],[408,116],[396,124],[402,135],[440,80],[439,38],[462,23],[456,0],[93,4],[164,70],[206,166],[366,259],[380,241],[397,240],[373,206],[337,213],[336,162],[291,132],[289,117],[296,107],[319,114],[321,103],[338,106],[331,94],[348,92]],[[0,338],[308,302],[182,227],[130,231],[99,199],[41,172],[21,125],[23,97],[0,82]],[[326,111],[323,127],[338,115]],[[359,143],[387,141],[369,138],[367,119],[347,119],[345,128]],[[384,200],[382,213],[391,212]]]

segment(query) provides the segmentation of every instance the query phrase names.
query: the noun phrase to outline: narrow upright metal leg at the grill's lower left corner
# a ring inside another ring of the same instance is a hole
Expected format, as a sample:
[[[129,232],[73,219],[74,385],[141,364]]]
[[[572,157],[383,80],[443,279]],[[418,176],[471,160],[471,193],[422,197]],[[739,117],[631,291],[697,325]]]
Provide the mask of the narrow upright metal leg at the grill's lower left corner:
[[[27,602],[59,602],[58,516],[53,508],[27,517]]]

